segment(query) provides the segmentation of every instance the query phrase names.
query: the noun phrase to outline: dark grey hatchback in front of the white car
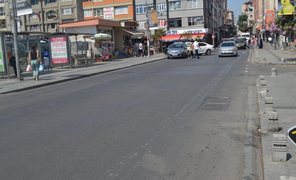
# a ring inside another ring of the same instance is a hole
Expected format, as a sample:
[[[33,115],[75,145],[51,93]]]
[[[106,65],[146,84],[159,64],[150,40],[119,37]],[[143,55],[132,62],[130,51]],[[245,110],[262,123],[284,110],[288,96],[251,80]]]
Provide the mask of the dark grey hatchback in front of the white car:
[[[169,58],[187,58],[188,50],[186,48],[185,43],[175,42],[171,44],[168,48],[167,56],[168,56],[168,59]]]

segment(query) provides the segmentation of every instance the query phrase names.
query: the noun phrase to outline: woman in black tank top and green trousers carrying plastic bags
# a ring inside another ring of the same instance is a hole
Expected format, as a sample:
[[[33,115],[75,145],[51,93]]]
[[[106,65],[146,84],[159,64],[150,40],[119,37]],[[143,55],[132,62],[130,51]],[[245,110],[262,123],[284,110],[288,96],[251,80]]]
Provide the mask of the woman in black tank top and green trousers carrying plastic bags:
[[[39,66],[42,64],[42,61],[39,57],[39,52],[36,50],[36,45],[31,45],[32,50],[29,53],[29,64],[33,69],[33,79],[38,81],[39,78]],[[32,61],[32,62],[31,62]]]

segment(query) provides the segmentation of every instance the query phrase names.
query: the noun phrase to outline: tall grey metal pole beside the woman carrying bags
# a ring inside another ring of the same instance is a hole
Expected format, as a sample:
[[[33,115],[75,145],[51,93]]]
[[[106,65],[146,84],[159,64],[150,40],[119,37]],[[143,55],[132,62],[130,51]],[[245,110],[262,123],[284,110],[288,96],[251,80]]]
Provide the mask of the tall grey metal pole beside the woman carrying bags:
[[[13,0],[10,0],[10,7],[11,7],[11,16],[12,16],[12,33],[13,33],[13,44],[14,44],[14,50],[15,50],[15,61],[17,66],[17,78],[16,81],[22,81],[24,78],[21,76],[21,69],[20,69],[20,58],[18,55],[18,45],[17,45],[17,25],[16,25],[16,12],[15,12],[15,2]],[[7,72],[9,73],[9,72]]]

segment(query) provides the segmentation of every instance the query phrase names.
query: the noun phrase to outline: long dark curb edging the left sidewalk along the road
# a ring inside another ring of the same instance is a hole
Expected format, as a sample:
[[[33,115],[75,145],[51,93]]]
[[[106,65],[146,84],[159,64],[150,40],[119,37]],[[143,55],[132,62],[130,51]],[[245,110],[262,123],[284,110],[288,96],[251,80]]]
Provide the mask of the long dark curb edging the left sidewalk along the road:
[[[30,86],[30,87],[25,87],[25,88],[21,88],[21,89],[6,91],[6,92],[2,92],[0,94],[9,94],[9,93],[13,93],[13,92],[28,91],[28,90],[31,90],[31,89],[41,88],[41,87],[45,87],[45,86],[51,86],[51,85],[54,85],[54,84],[60,84],[60,83],[68,82],[68,81],[87,78],[87,77],[90,77],[90,76],[96,76],[96,75],[99,75],[99,74],[109,73],[109,72],[112,72],[112,71],[117,71],[117,70],[125,69],[125,68],[131,68],[133,66],[139,66],[139,65],[152,63],[152,62],[159,61],[159,60],[164,60],[164,59],[167,59],[167,58],[161,58],[161,59],[152,60],[152,61],[148,61],[148,62],[133,64],[133,65],[130,65],[130,66],[124,66],[124,67],[121,67],[121,68],[110,69],[110,70],[107,70],[107,71],[101,71],[101,72],[97,72],[97,73],[91,73],[91,74],[82,75],[82,76],[78,76],[78,77],[67,78],[67,79],[54,81],[54,82],[50,82],[50,83],[39,84],[39,85],[36,85],[36,86]]]

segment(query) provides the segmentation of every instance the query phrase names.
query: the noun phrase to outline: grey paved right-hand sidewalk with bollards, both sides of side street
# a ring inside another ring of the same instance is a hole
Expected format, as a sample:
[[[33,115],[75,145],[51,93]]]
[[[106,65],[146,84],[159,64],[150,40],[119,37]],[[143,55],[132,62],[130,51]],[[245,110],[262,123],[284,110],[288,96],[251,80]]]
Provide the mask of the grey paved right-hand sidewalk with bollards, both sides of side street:
[[[267,43],[268,45],[268,43]],[[278,48],[278,47],[277,47]],[[292,49],[292,48],[291,48]],[[294,48],[293,48],[294,50]],[[263,63],[263,57],[266,57],[266,63],[271,65],[292,65],[295,66],[295,53],[281,49],[274,50],[274,46],[267,46],[266,49],[254,50],[255,62]],[[256,58],[256,55],[258,58]],[[281,58],[286,62],[281,63]],[[268,112],[265,112],[265,102],[261,101],[259,79],[256,81],[257,97],[260,115],[260,128],[263,154],[263,171],[266,180],[296,180],[296,146],[287,140],[287,161],[272,161],[273,153],[273,134],[284,134],[287,136],[287,130],[296,125],[296,78],[295,73],[281,74],[278,76],[266,76],[268,97],[273,97],[274,111],[279,112],[279,132],[268,132]]]

